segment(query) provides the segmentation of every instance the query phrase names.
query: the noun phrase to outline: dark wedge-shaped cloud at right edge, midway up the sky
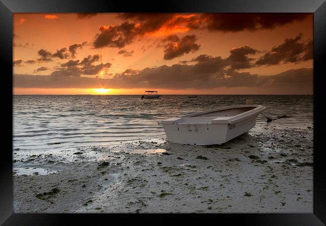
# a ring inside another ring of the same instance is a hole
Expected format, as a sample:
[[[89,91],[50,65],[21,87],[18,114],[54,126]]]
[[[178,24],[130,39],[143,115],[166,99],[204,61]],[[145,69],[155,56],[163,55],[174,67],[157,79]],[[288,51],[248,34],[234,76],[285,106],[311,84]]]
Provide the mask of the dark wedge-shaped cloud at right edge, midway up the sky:
[[[280,63],[296,63],[302,60],[309,60],[313,57],[312,41],[300,42],[302,34],[295,38],[287,38],[279,46],[273,47],[270,52],[256,61],[256,65],[275,65]]]

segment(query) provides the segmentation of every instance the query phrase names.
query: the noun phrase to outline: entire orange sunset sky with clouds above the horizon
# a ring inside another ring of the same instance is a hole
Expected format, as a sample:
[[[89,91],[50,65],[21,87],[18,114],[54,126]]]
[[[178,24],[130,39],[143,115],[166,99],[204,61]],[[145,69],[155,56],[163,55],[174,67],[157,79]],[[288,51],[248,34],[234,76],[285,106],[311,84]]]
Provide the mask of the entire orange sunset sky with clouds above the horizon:
[[[14,14],[14,94],[312,94],[313,14]]]

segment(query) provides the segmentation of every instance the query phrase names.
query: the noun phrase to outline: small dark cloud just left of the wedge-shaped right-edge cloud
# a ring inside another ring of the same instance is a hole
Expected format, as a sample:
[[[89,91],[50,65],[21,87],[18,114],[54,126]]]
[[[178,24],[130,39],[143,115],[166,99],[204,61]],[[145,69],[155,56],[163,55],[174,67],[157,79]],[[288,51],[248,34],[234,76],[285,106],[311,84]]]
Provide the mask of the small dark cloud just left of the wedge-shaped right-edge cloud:
[[[251,68],[254,65],[251,63],[253,58],[249,58],[249,54],[256,54],[257,50],[249,46],[233,48],[230,50],[230,56],[226,59],[232,69]]]

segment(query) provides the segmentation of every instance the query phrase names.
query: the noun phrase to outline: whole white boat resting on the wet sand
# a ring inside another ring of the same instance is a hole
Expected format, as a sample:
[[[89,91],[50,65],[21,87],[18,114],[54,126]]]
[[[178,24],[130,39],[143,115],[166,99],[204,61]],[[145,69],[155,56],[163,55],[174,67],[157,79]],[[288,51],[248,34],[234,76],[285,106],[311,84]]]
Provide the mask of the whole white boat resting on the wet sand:
[[[205,110],[162,120],[168,141],[186,145],[223,144],[256,125],[266,107],[257,104],[235,105]]]

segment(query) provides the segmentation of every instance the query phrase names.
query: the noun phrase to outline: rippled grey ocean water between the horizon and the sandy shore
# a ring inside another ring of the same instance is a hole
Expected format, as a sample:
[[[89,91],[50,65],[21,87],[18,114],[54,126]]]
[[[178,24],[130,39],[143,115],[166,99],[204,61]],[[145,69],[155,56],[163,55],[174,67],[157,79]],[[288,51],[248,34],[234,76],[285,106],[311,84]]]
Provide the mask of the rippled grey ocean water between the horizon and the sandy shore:
[[[259,133],[266,127],[305,129],[313,126],[312,95],[14,95],[14,149],[45,150],[97,146],[166,138],[157,121],[221,106],[245,104],[247,98],[267,106],[264,115],[284,118],[266,123],[259,115]]]

